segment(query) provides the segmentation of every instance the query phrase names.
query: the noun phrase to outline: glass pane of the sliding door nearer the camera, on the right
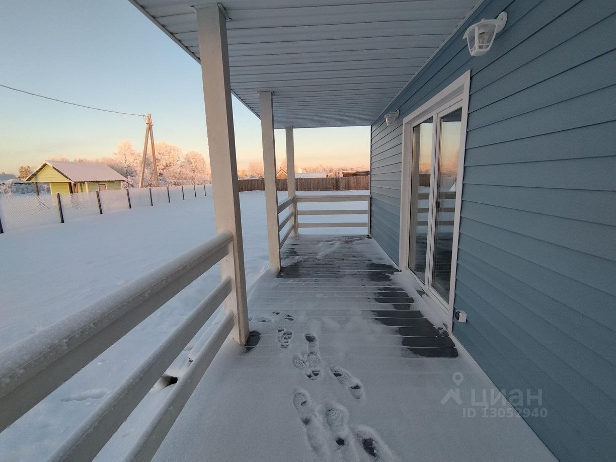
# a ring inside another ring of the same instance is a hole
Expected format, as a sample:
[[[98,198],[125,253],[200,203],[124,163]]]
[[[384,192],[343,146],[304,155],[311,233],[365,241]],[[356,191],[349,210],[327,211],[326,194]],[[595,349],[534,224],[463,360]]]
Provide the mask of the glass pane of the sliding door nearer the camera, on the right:
[[[458,158],[462,108],[439,119],[439,152],[436,173],[436,201],[434,217],[434,253],[432,254],[431,285],[444,301],[449,300],[452,275],[453,221],[456,189],[458,188]]]

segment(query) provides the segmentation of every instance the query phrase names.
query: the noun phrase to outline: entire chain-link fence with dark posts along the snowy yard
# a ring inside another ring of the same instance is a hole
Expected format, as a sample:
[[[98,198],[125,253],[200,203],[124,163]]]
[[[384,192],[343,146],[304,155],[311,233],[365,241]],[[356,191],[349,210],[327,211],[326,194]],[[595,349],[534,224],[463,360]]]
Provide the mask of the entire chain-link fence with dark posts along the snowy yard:
[[[132,188],[89,193],[0,197],[0,233],[72,221],[114,210],[150,207],[206,196],[204,185]]]

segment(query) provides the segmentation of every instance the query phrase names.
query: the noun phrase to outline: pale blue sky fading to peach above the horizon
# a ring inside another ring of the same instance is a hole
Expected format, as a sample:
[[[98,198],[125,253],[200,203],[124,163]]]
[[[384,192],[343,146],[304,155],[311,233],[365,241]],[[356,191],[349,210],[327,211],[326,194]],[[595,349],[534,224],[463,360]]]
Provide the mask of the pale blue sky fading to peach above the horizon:
[[[200,68],[128,0],[2,0],[0,83],[57,99],[152,113],[154,137],[207,154]],[[275,109],[275,108],[274,108]],[[233,97],[238,168],[262,160],[260,121]],[[277,161],[285,134],[276,131]],[[296,129],[296,166],[368,165],[370,128]],[[0,172],[52,156],[142,149],[140,117],[103,113],[0,87]]]

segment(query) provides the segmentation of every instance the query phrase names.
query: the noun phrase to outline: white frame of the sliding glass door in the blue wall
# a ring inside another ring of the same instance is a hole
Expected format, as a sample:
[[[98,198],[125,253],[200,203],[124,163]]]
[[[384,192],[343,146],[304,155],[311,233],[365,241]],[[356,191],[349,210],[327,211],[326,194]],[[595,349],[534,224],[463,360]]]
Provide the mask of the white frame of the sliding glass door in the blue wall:
[[[471,86],[471,71],[466,71],[463,75],[457,78],[453,83],[445,87],[439,94],[432,97],[428,102],[421,105],[410,115],[403,118],[402,121],[402,191],[400,194],[400,251],[398,266],[402,270],[408,270],[408,273],[415,278],[419,286],[434,300],[437,306],[441,307],[448,315],[453,316],[453,302],[455,299],[455,283],[456,283],[456,263],[458,261],[458,240],[460,238],[460,209],[462,205],[462,188],[464,182],[464,150],[466,147],[466,120],[468,117],[468,100],[469,89]],[[449,290],[449,299],[444,300],[436,291],[431,288],[432,277],[432,260],[434,243],[431,236],[434,234],[434,226],[436,217],[434,217],[434,201],[436,201],[436,174],[439,161],[439,139],[437,133],[439,130],[439,118],[442,115],[449,113],[456,108],[462,108],[461,121],[461,136],[460,136],[460,154],[458,157],[458,179],[459,185],[456,188],[455,213],[453,220],[453,244],[452,244],[452,274]],[[408,268],[408,251],[409,251],[409,223],[411,211],[411,148],[413,145],[412,134],[413,127],[422,123],[432,116],[434,129],[432,131],[432,169],[430,176],[430,206],[428,207],[428,248],[426,248],[426,282],[419,280]]]

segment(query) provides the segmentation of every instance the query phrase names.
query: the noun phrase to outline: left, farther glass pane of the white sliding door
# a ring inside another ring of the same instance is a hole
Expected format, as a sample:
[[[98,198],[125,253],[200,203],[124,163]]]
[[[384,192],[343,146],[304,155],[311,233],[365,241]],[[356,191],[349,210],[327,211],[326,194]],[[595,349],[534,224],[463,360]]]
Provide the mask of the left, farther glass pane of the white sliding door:
[[[413,127],[411,144],[411,214],[408,267],[425,281],[428,249],[428,204],[432,169],[432,118]]]

